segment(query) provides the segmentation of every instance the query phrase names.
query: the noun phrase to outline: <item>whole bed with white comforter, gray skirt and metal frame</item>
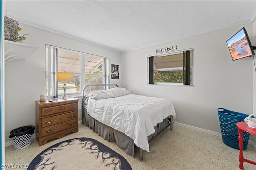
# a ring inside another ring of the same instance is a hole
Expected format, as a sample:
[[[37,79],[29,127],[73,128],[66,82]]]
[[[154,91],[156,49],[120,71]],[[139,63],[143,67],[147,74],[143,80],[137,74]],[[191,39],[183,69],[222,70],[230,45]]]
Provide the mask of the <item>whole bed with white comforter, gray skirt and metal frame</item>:
[[[176,116],[170,100],[131,94],[117,84],[90,84],[83,89],[82,121],[105,140],[134,156],[170,126]]]

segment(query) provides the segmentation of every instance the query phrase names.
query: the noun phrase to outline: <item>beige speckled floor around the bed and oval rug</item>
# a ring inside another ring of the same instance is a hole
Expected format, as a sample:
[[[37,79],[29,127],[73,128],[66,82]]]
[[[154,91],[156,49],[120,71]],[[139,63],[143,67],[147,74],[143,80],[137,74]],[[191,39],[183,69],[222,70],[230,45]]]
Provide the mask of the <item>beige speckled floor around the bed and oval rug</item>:
[[[166,129],[150,143],[150,152],[143,152],[144,160],[142,162],[139,161],[139,150],[136,150],[133,158],[117,147],[116,143],[104,141],[88,126],[80,124],[77,133],[70,133],[60,139],[51,140],[42,146],[38,145],[36,139],[32,139],[31,145],[21,150],[15,150],[13,146],[6,147],[5,164],[23,164],[26,167],[44,149],[76,137],[89,137],[100,141],[124,156],[134,170],[240,170],[239,150],[225,145],[221,137],[177,125],[174,125],[173,131]],[[256,151],[252,145],[248,145],[243,153],[244,158],[256,161]],[[74,169],[76,168],[74,167]],[[86,169],[86,165],[84,165],[84,169]],[[244,170],[256,170],[256,165],[244,162]]]

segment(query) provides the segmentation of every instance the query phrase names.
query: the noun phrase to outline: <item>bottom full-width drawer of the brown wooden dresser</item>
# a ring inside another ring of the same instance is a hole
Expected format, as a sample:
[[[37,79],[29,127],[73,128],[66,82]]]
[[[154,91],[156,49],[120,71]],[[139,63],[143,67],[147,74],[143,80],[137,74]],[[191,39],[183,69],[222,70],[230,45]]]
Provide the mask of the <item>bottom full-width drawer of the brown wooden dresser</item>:
[[[60,132],[75,126],[78,126],[78,119],[73,119],[73,120],[65,121],[55,125],[50,125],[42,128],[42,136],[44,137],[44,136],[47,136],[56,132]]]

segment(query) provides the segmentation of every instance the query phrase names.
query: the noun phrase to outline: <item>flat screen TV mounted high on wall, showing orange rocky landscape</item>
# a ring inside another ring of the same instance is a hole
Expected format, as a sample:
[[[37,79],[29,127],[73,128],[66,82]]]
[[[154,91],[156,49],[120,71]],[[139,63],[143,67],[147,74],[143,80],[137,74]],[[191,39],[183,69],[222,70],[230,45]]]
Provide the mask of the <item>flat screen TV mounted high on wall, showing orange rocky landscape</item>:
[[[254,55],[252,44],[244,27],[233,35],[227,44],[233,61]]]

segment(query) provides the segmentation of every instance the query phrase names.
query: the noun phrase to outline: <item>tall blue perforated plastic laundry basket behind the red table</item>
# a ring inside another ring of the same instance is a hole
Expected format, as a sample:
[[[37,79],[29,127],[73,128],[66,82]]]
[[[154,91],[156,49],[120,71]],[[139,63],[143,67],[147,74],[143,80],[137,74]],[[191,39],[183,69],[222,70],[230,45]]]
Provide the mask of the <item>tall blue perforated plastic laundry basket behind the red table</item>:
[[[239,150],[238,127],[236,126],[236,123],[244,121],[244,119],[249,115],[230,111],[224,108],[218,108],[218,115],[220,119],[220,130],[223,143],[229,147]],[[244,131],[243,150],[246,150],[247,148],[249,137],[250,133]]]

